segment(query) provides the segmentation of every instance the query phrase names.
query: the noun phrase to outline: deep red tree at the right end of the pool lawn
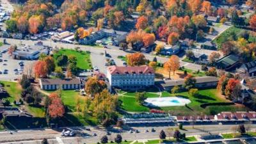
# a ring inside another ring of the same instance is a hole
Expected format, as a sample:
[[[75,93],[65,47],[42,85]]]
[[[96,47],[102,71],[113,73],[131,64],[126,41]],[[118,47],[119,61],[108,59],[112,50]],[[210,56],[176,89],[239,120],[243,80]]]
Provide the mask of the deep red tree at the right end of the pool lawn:
[[[226,89],[225,89],[225,95],[226,97],[228,97],[228,99],[232,99],[232,95],[236,95],[236,93],[233,93],[233,92],[236,92],[234,91],[234,89],[236,88],[237,85],[240,85],[240,82],[239,80],[237,79],[234,79],[234,78],[230,78],[228,80],[228,83],[226,85]]]

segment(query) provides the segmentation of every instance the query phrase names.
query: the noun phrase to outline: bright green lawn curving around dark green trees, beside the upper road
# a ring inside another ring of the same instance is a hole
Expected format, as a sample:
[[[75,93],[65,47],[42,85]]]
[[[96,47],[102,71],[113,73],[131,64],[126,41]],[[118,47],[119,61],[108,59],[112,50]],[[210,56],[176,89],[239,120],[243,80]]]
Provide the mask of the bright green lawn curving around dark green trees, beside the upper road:
[[[56,54],[54,54],[54,58],[56,59],[58,55],[65,54],[67,56],[76,56],[77,58],[77,67],[81,69],[91,69],[92,61],[90,60],[89,52],[79,52],[72,49],[61,49]]]

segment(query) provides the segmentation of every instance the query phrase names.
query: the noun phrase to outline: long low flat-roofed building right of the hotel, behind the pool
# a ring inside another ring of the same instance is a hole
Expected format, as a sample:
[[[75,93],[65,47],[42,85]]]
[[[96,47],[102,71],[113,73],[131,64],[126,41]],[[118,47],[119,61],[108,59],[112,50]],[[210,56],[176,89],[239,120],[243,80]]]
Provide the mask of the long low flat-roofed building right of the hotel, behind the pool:
[[[195,79],[196,88],[216,88],[219,81],[218,77],[210,76],[195,77]],[[162,90],[170,91],[174,86],[184,86],[184,79],[157,81],[156,84]]]

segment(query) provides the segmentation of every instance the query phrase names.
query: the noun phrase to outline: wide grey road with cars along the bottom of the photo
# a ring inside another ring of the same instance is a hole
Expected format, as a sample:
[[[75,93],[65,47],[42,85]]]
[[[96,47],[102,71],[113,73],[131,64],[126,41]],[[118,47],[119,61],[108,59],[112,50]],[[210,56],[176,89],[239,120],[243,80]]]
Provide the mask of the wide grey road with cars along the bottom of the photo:
[[[186,136],[198,136],[200,134],[219,134],[224,132],[232,132],[231,127],[234,125],[195,125],[194,128],[192,125],[184,126],[184,130],[180,132],[185,132]],[[255,131],[256,125],[251,125],[251,131]],[[133,140],[150,140],[159,138],[159,132],[163,129],[166,132],[166,136],[172,137],[174,129],[177,129],[177,126],[164,126],[164,127],[154,127],[156,132],[150,132],[152,127],[131,127],[131,129],[138,129],[139,133],[129,133],[129,129],[124,130],[122,134],[123,140],[133,141]],[[39,129],[39,130],[27,130],[27,131],[17,131],[10,134],[9,132],[0,132],[0,143],[40,143],[38,140],[47,138],[54,143],[97,143],[100,141],[100,138],[106,135],[106,129],[101,127],[91,127],[91,131],[86,131],[84,127],[77,127],[76,131],[83,133],[83,136],[77,134],[76,137],[61,137],[59,131],[54,131],[52,129]],[[145,132],[148,129],[149,132]],[[172,129],[172,131],[170,131]],[[60,130],[61,131],[61,130]],[[119,134],[116,129],[113,129],[111,135],[108,136],[109,141],[114,140],[116,134]],[[93,133],[96,133],[97,136],[92,136]],[[56,138],[58,140],[56,140]],[[16,141],[16,142],[15,142]],[[26,142],[27,141],[27,142]]]

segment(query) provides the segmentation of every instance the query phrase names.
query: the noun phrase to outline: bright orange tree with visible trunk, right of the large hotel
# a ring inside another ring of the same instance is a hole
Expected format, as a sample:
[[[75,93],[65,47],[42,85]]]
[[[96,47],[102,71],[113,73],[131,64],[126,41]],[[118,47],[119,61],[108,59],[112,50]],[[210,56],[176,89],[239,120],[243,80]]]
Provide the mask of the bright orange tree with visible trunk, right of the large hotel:
[[[173,76],[175,71],[180,67],[179,57],[176,55],[172,55],[168,61],[164,63],[164,69],[169,72],[169,79],[171,77],[171,71],[173,71]]]

